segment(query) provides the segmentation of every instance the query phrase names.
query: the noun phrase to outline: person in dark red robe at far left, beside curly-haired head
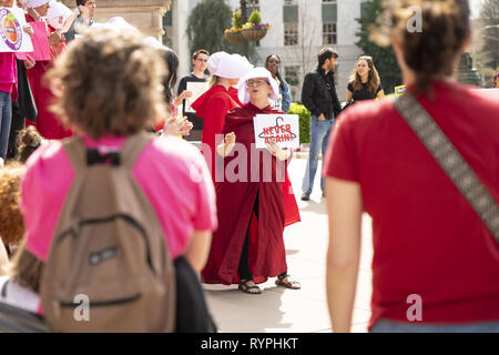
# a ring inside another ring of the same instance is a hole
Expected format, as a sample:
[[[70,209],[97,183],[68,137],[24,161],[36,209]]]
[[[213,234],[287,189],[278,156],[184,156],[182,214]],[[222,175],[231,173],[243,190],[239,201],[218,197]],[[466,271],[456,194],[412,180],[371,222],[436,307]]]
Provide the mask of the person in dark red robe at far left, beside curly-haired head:
[[[28,80],[30,82],[31,92],[38,109],[37,122],[27,121],[27,125],[34,125],[40,134],[45,139],[59,140],[71,136],[72,130],[64,128],[57,116],[49,110],[53,95],[43,75],[52,64],[52,60],[65,49],[65,40],[62,33],[47,24],[42,19],[47,16],[50,3],[49,0],[23,0],[22,4],[27,9],[26,20],[28,23],[42,21],[45,24],[47,36],[50,44],[50,60],[37,61],[34,67],[28,69]],[[33,28],[34,29],[34,28]],[[39,29],[34,29],[37,32]]]

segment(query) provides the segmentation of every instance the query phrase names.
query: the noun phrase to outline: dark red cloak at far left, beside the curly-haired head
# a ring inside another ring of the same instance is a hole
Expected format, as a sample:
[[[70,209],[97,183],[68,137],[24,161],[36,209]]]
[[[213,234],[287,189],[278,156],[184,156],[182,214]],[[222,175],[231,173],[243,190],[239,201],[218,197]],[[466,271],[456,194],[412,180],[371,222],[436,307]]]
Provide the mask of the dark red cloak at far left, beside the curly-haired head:
[[[29,14],[26,16],[28,23],[34,22],[33,18]],[[47,36],[54,32],[55,29],[47,27]],[[65,41],[63,43],[51,45],[50,52],[52,60],[65,48]],[[34,125],[40,134],[49,140],[59,140],[67,136],[71,136],[73,133],[70,129],[64,128],[55,115],[49,111],[50,104],[53,102],[53,94],[45,85],[43,75],[49,70],[51,61],[37,61],[33,68],[27,70],[28,80],[30,82],[31,92],[33,94],[34,103],[38,109],[37,122],[27,120],[27,125]]]

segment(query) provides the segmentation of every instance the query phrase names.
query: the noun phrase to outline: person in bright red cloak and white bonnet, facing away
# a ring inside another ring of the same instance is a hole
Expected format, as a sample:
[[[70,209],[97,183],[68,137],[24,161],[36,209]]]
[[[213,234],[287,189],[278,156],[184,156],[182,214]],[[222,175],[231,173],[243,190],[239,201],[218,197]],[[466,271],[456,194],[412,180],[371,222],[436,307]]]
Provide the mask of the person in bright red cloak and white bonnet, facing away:
[[[247,59],[240,54],[225,52],[212,54],[207,62],[207,69],[212,75],[211,88],[192,104],[196,115],[204,120],[201,151],[212,172],[213,181],[216,180],[216,166],[222,163],[222,160],[216,156],[215,150],[223,140],[221,133],[225,115],[228,110],[240,105],[231,95],[234,90],[231,88],[237,84],[240,78],[244,77],[252,68],[253,65]]]

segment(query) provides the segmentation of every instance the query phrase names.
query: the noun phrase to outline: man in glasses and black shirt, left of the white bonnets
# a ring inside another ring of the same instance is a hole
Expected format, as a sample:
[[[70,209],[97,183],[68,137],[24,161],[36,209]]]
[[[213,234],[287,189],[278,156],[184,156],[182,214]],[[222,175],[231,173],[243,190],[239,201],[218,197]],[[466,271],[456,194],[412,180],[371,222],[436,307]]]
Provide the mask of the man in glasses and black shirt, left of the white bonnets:
[[[203,119],[200,119],[193,112],[186,112],[186,99],[192,98],[193,93],[187,90],[189,82],[206,82],[206,75],[204,72],[207,68],[207,61],[210,59],[210,52],[204,49],[198,49],[192,54],[192,65],[193,71],[191,74],[181,79],[177,89],[177,97],[175,99],[175,104],[182,104],[182,113],[187,116],[189,121],[192,122],[193,129],[191,134],[186,138],[189,141],[201,141],[201,134],[203,133]]]

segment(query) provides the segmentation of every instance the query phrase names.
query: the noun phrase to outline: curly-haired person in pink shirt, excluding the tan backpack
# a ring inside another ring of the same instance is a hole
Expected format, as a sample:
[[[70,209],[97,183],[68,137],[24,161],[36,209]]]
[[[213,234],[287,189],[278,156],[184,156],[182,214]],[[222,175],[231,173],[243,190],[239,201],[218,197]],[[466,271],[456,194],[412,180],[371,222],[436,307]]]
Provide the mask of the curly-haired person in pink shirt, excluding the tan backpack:
[[[128,136],[163,119],[164,74],[159,52],[138,32],[92,31],[49,71],[59,97],[54,111],[63,123],[77,126],[88,149],[116,152]],[[58,90],[61,87],[63,91]],[[214,186],[200,151],[181,139],[157,136],[140,153],[132,175],[156,213],[172,257],[183,256],[201,271],[217,220]],[[26,224],[21,260],[43,267],[74,178],[61,141],[42,144],[28,160],[21,183]],[[19,271],[21,281],[22,274]],[[37,291],[40,280],[29,274]]]

